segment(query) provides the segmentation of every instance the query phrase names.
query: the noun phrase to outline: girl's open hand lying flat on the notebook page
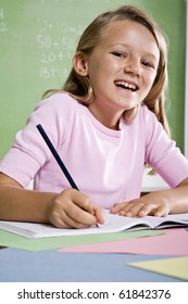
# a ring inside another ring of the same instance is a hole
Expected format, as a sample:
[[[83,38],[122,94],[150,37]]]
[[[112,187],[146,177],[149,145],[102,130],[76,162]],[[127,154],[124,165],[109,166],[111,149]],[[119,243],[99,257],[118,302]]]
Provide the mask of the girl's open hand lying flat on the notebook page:
[[[166,195],[162,194],[162,191],[152,192],[126,203],[116,203],[111,208],[112,214],[128,217],[166,216],[170,211],[170,201]]]

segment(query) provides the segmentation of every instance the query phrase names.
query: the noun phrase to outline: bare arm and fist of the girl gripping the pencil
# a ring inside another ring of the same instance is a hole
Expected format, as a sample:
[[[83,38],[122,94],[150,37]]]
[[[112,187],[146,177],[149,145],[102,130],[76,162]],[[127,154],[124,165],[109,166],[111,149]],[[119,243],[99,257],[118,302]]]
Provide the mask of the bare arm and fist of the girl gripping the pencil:
[[[1,173],[0,219],[51,223],[59,228],[84,228],[103,223],[101,207],[82,192],[74,189],[61,193],[26,190]]]

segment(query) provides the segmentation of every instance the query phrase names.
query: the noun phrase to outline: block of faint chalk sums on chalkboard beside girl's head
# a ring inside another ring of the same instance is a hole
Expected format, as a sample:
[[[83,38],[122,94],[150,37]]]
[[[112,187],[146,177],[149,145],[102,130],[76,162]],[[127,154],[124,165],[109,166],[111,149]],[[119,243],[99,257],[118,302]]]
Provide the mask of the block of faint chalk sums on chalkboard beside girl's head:
[[[55,35],[54,35],[55,33]],[[83,33],[82,25],[37,18],[36,42],[39,50],[39,78],[65,78],[66,62],[75,52],[76,38]]]

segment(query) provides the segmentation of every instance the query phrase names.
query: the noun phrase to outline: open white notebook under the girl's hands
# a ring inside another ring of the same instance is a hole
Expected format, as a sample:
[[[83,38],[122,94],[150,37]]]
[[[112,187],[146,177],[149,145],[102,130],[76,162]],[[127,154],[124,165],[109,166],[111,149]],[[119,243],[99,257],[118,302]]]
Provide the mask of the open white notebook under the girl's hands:
[[[93,233],[121,232],[128,229],[162,229],[173,227],[188,227],[188,213],[168,215],[166,217],[146,216],[123,217],[105,211],[105,223],[99,227],[91,226],[85,229],[59,229],[51,225],[4,221],[0,220],[0,229],[24,236],[26,238],[49,238],[63,236],[82,236]]]

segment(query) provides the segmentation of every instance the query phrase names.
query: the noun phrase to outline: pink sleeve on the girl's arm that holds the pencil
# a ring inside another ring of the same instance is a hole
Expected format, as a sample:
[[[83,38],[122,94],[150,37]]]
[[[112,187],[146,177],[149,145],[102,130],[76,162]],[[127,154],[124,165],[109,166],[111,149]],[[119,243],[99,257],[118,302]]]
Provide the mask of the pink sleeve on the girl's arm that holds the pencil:
[[[15,141],[0,163],[0,172],[26,187],[36,173],[52,157],[45,140],[37,129],[42,125],[58,150],[74,119],[75,100],[65,93],[57,93],[42,100],[29,115],[25,128],[15,136]]]

